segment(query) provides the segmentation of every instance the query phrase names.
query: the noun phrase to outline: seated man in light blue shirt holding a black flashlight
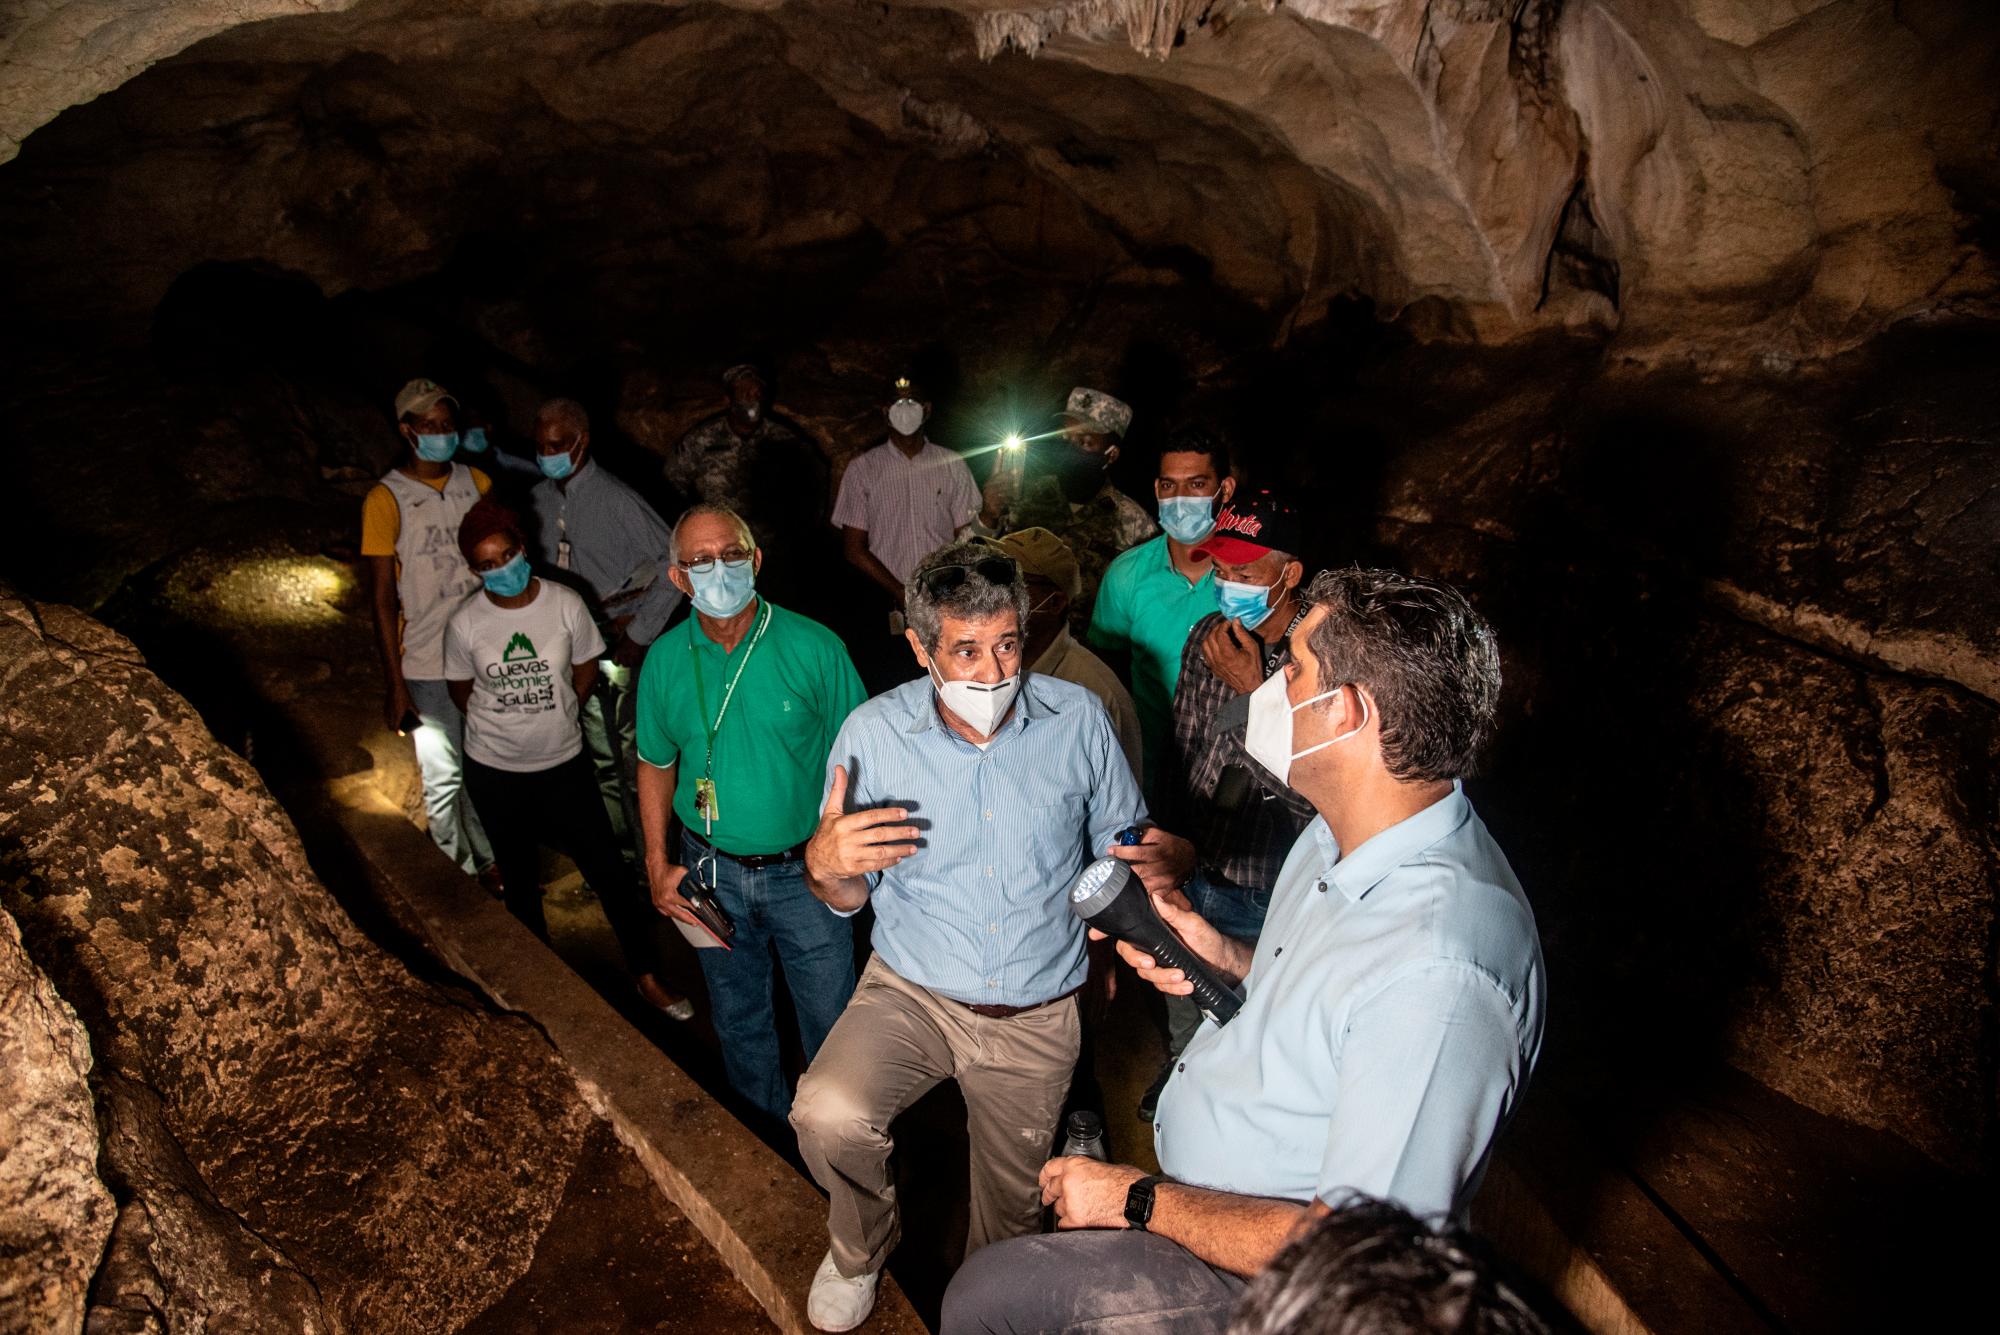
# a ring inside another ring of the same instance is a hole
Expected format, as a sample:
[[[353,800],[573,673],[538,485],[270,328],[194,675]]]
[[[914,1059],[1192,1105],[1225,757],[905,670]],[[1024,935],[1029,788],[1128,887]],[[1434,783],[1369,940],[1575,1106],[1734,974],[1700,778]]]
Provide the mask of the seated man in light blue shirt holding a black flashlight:
[[[1290,662],[1250,699],[1250,755],[1318,811],[1292,847],[1256,947],[1172,893],[1178,841],[1118,849],[1198,955],[1242,979],[1160,1097],[1158,1177],[1050,1159],[1064,1229],[972,1259],[944,1335],[1126,1323],[1222,1331],[1304,1221],[1354,1193],[1462,1215],[1542,1045],[1534,913],[1458,777],[1492,727],[1500,660],[1452,588],[1322,574]],[[1346,849],[1346,851],[1342,851]],[[1166,891],[1166,893],[1160,893]],[[1178,969],[1120,943],[1140,977]]]

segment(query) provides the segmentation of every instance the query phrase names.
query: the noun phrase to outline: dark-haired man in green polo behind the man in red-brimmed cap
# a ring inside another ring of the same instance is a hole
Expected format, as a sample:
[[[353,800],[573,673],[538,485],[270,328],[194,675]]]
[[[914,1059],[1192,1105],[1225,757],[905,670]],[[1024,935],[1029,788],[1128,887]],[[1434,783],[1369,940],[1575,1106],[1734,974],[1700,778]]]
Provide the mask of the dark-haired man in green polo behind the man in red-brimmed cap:
[[[1128,679],[1146,761],[1140,783],[1148,793],[1174,729],[1180,650],[1194,624],[1216,610],[1214,568],[1194,548],[1214,532],[1234,492],[1222,436],[1202,428],[1174,432],[1160,450],[1160,474],[1152,482],[1164,532],[1110,564],[1090,612],[1084,636],[1090,646],[1124,656],[1132,666]]]

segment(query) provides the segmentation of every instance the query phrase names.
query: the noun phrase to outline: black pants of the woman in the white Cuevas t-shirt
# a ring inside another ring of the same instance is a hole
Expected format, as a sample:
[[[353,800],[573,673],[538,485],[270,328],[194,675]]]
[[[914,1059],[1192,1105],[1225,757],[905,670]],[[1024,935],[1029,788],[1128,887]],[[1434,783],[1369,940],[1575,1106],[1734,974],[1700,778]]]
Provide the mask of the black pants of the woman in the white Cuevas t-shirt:
[[[662,919],[642,895],[618,851],[618,835],[598,797],[590,753],[580,751],[560,765],[516,773],[494,769],[466,755],[466,793],[480,813],[494,845],[494,863],[506,881],[508,913],[528,931],[548,939],[542,917],[540,847],[546,843],[568,855],[604,905],[634,977],[660,963]]]

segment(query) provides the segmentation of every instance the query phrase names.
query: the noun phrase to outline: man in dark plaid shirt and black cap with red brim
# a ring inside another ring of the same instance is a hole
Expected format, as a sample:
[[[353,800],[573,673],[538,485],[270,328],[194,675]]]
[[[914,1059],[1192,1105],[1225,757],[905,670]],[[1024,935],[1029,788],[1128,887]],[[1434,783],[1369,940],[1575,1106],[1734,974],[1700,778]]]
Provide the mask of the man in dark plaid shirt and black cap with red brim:
[[[1160,757],[1160,825],[1186,831],[1200,855],[1188,901],[1240,941],[1262,931],[1278,869],[1312,821],[1312,803],[1244,749],[1250,691],[1284,664],[1292,628],[1306,616],[1298,548],[1298,516],[1270,492],[1222,510],[1196,550],[1214,562],[1220,612],[1188,632],[1174,733]],[[1168,997],[1166,1015],[1172,1051],[1140,1099],[1142,1121],[1152,1121],[1174,1059],[1202,1023],[1188,997]]]

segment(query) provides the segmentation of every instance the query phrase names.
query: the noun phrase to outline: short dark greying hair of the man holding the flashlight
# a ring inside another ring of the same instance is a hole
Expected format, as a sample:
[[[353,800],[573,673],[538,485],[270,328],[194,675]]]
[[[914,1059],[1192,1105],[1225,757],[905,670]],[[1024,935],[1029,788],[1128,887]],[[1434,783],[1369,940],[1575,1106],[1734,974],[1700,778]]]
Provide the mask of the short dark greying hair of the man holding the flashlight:
[[[1450,584],[1394,570],[1322,570],[1306,646],[1320,689],[1354,683],[1382,719],[1382,763],[1404,781],[1472,773],[1500,709],[1500,646]]]

